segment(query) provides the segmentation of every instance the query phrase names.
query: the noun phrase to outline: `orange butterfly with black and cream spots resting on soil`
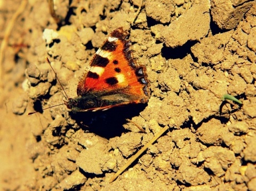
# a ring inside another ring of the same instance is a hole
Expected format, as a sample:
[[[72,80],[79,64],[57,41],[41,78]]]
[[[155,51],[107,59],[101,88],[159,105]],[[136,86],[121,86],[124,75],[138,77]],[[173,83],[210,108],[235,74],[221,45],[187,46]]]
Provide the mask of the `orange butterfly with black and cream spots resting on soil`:
[[[79,80],[78,97],[65,102],[68,109],[97,111],[148,102],[150,90],[146,68],[132,59],[131,41],[126,40],[128,35],[123,28],[111,32],[93,56],[89,72],[84,72]]]

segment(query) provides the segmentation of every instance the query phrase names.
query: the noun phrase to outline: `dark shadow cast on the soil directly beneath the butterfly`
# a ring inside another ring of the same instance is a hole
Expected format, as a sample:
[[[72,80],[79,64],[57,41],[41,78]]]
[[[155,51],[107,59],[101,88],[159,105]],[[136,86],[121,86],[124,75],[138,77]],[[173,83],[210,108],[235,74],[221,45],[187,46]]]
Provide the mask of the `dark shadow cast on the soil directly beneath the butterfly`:
[[[146,106],[147,104],[130,104],[106,111],[70,112],[70,116],[83,130],[109,139],[128,132],[129,130],[123,127],[123,124],[127,123],[126,119],[139,115]]]

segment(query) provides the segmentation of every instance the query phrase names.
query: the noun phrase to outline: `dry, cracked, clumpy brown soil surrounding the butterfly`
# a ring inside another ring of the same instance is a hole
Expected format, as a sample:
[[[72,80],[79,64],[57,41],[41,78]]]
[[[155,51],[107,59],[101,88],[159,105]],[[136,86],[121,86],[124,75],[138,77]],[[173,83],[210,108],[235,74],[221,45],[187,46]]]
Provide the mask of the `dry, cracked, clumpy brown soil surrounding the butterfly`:
[[[46,0],[0,1],[0,190],[256,190],[255,1],[54,3],[58,24]],[[118,27],[147,68],[148,104],[26,115],[66,100],[45,56],[75,97]]]

